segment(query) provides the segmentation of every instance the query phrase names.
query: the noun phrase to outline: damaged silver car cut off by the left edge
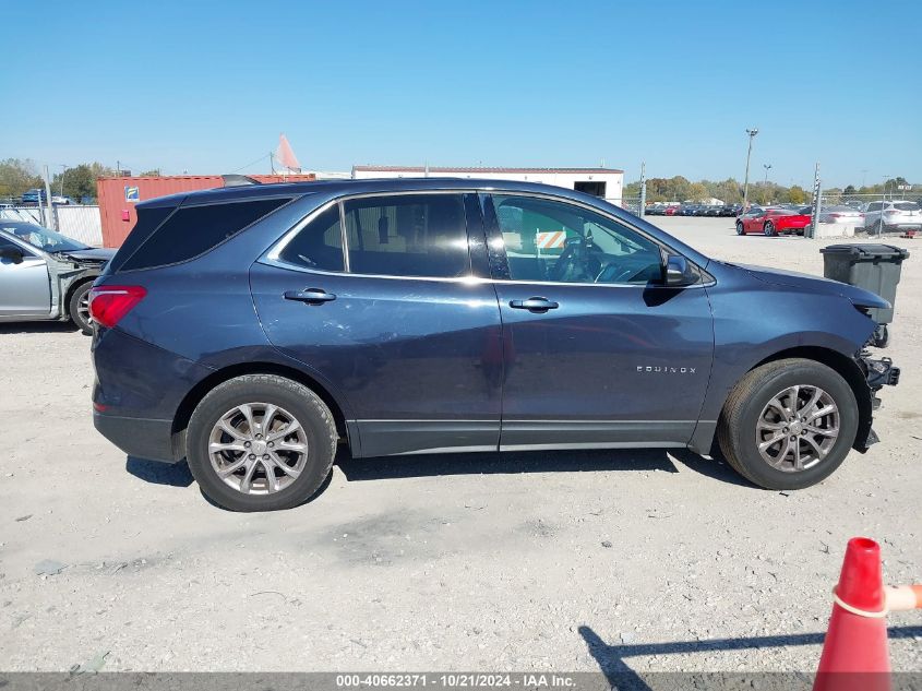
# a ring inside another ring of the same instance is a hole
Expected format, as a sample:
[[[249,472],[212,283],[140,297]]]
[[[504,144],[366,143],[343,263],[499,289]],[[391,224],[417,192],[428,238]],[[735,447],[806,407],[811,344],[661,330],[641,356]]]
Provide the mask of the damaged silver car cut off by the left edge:
[[[89,334],[89,287],[115,250],[0,219],[0,321],[68,320]]]

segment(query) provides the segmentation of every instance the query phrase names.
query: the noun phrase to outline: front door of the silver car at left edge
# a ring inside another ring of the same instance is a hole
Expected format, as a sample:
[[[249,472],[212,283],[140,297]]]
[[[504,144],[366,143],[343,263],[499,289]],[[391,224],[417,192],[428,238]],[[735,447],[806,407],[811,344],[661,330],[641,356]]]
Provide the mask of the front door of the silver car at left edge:
[[[45,259],[0,235],[0,248],[19,250],[21,262],[0,258],[0,319],[48,317],[51,285]]]

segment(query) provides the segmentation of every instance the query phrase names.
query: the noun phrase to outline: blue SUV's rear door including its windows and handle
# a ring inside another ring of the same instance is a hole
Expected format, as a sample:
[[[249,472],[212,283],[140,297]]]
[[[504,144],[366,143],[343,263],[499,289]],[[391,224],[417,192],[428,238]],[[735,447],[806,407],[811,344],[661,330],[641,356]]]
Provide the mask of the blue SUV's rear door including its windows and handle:
[[[351,198],[251,269],[270,341],[348,404],[354,453],[496,449],[500,310],[468,233],[486,271],[476,195]]]

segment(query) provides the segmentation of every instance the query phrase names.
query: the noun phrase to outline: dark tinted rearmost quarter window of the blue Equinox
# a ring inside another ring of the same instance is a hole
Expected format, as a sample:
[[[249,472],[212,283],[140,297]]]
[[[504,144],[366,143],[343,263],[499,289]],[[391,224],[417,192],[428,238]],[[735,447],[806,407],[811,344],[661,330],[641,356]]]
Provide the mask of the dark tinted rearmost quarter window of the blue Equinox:
[[[122,264],[122,270],[184,262],[217,247],[289,200],[180,206]]]

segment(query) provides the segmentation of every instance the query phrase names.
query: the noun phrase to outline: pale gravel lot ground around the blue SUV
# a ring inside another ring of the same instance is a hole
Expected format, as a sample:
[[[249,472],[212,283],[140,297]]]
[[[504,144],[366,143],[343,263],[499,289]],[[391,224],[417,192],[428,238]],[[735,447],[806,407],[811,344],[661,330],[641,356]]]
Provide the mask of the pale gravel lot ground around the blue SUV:
[[[822,275],[818,241],[654,221]],[[228,513],[96,433],[88,338],[0,326],[0,669],[812,671],[849,537],[922,577],[922,243],[887,241],[913,257],[883,442],[791,493],[662,450],[342,458],[297,510]],[[922,670],[920,623],[889,618],[896,669]],[[708,643],[759,636],[787,644]]]

